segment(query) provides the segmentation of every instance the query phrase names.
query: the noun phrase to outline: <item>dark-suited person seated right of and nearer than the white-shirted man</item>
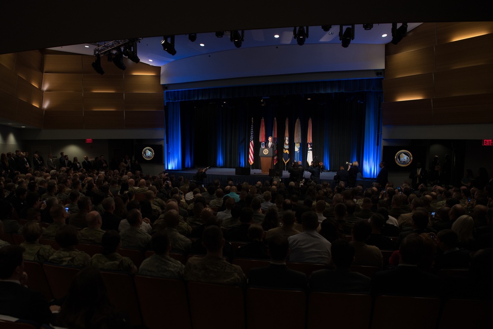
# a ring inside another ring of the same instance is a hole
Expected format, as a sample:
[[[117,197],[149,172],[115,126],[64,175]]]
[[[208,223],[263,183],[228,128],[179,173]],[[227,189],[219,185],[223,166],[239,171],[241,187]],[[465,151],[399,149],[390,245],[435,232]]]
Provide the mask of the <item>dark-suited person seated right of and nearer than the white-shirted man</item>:
[[[335,269],[314,271],[308,284],[310,290],[329,293],[370,293],[371,279],[350,270],[354,253],[354,247],[346,239],[332,242],[330,257]]]

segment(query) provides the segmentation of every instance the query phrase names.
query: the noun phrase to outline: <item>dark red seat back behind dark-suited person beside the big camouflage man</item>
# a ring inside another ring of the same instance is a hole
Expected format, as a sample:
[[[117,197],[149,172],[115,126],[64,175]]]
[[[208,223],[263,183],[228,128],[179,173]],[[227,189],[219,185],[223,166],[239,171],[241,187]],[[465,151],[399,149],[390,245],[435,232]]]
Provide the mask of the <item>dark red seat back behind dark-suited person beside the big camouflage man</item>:
[[[248,329],[305,328],[306,292],[299,290],[248,288]]]

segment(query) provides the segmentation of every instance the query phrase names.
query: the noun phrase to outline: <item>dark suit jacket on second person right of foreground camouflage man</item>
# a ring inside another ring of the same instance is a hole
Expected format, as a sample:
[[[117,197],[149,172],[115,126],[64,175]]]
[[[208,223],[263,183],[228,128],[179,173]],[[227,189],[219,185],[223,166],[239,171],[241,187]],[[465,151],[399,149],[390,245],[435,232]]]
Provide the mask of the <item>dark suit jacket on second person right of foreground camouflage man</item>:
[[[319,269],[308,282],[310,290],[330,293],[369,293],[371,279],[349,269]]]

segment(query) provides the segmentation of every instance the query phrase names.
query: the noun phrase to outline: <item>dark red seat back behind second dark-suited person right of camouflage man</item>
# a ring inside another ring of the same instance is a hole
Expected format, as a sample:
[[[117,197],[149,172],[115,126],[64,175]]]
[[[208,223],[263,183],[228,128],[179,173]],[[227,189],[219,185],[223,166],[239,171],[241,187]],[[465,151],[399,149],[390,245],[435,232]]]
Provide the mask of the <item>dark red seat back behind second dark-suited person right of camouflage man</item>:
[[[368,328],[371,303],[370,295],[312,292],[308,296],[307,328],[329,325],[331,328]]]

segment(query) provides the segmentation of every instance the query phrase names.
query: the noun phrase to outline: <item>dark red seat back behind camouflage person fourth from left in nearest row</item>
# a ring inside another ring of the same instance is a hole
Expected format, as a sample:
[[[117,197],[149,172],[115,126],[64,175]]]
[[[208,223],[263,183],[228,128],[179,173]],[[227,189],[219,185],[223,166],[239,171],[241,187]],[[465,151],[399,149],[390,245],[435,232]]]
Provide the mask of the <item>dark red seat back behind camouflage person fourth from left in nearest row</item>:
[[[144,326],[192,328],[184,281],[136,275],[134,282]]]

